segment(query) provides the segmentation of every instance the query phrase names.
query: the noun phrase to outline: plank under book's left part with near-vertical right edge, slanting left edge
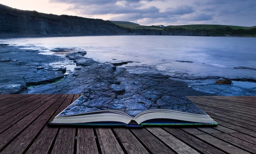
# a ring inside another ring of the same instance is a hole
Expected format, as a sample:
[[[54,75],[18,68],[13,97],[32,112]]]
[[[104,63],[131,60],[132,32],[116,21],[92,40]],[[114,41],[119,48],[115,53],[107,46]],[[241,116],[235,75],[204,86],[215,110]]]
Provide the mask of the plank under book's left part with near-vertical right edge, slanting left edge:
[[[76,129],[61,128],[51,154],[73,154]]]

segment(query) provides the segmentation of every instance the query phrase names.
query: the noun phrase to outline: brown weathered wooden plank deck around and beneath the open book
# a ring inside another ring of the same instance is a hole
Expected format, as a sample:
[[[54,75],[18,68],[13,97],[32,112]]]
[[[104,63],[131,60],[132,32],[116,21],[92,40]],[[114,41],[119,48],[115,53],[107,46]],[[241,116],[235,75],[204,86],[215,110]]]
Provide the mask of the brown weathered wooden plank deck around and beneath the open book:
[[[255,154],[256,96],[189,96],[213,128],[49,128],[79,95],[0,95],[0,154]]]

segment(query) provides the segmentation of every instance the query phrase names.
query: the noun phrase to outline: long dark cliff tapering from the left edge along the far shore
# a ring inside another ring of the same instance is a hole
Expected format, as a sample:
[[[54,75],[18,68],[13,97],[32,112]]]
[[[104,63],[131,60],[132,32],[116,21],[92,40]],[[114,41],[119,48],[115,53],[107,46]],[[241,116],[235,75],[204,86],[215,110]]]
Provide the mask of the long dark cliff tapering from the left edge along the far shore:
[[[23,11],[0,4],[0,38],[87,35],[188,35],[205,32],[186,29],[128,29],[102,19]]]

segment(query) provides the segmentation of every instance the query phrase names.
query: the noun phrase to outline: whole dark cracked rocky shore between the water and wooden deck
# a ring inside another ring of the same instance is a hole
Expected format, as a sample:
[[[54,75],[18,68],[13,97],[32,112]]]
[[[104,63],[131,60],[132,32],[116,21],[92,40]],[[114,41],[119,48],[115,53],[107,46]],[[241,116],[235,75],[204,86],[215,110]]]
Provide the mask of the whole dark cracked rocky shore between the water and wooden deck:
[[[185,96],[256,94],[255,88],[217,85],[213,77],[172,78],[148,66],[116,67],[87,58],[83,50],[65,50],[69,53],[44,55],[22,46],[0,46],[0,93],[83,93],[92,104],[173,101],[177,108],[189,101]]]

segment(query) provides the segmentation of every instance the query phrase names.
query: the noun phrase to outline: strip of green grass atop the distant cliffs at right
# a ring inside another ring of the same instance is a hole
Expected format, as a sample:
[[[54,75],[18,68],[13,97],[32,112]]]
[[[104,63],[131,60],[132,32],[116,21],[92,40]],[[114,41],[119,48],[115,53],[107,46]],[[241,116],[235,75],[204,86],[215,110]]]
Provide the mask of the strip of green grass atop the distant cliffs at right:
[[[229,26],[229,25],[179,25],[179,26],[167,26],[167,28],[183,28],[183,29],[218,29],[230,27],[232,29],[246,29],[249,27],[244,26]]]

